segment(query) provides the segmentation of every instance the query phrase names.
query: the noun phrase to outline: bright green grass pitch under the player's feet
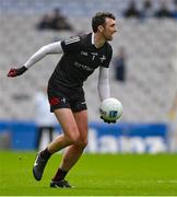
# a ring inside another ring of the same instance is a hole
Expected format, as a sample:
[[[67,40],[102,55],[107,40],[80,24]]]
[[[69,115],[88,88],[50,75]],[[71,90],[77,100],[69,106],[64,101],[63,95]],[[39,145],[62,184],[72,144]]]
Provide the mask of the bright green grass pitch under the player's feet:
[[[72,189],[49,188],[61,160],[55,154],[43,179],[32,174],[35,152],[0,152],[0,195],[177,195],[177,155],[84,154],[67,179]]]

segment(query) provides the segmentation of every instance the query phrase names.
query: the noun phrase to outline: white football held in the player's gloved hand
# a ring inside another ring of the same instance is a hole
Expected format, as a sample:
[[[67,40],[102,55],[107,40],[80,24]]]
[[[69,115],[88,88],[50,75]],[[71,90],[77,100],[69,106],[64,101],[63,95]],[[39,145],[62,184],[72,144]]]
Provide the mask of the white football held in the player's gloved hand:
[[[122,105],[115,97],[104,100],[99,107],[101,116],[106,120],[117,120],[122,114]]]

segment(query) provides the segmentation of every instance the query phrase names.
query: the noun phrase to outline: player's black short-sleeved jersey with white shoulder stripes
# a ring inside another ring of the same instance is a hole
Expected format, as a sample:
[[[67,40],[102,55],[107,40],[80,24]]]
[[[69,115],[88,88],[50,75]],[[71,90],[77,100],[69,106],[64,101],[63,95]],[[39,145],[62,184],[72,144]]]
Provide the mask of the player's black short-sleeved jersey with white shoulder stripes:
[[[49,80],[52,88],[82,86],[96,68],[109,67],[113,56],[113,48],[107,42],[101,48],[92,44],[92,33],[62,40],[61,47],[63,55]]]

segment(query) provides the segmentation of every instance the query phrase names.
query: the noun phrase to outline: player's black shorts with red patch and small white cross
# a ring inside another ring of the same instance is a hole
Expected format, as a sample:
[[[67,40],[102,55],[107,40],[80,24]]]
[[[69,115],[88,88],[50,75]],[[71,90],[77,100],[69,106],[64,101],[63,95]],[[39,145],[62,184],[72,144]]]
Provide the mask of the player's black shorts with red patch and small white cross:
[[[72,112],[81,112],[87,109],[85,103],[84,90],[80,88],[48,86],[48,101],[50,112],[57,108],[71,108]]]

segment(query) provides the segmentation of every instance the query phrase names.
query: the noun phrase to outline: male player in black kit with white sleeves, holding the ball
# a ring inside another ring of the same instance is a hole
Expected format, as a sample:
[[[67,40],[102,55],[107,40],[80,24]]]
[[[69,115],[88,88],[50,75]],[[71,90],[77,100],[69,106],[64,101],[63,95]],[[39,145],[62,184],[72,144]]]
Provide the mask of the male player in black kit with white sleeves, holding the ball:
[[[33,166],[34,177],[40,181],[51,154],[67,148],[50,187],[71,187],[64,177],[87,143],[87,107],[82,86],[98,67],[97,88],[101,101],[110,96],[108,67],[113,49],[108,40],[111,40],[113,34],[117,32],[115,16],[111,13],[98,12],[92,19],[92,27],[93,33],[42,47],[23,67],[12,68],[8,73],[8,77],[12,78],[21,76],[46,55],[63,53],[48,82],[50,111],[55,113],[63,134],[37,154]]]

